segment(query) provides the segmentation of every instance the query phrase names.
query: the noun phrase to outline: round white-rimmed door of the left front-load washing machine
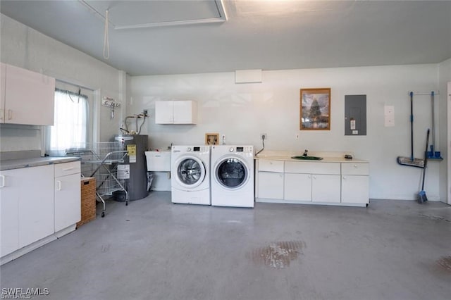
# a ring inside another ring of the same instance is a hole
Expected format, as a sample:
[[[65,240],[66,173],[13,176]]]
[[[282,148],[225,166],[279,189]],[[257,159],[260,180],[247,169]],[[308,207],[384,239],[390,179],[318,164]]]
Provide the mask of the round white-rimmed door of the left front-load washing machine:
[[[199,186],[205,179],[205,165],[194,156],[180,158],[177,163],[177,181],[179,185],[192,189]]]

